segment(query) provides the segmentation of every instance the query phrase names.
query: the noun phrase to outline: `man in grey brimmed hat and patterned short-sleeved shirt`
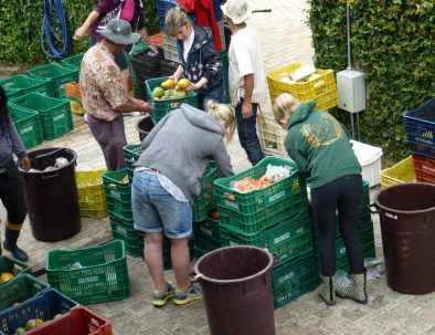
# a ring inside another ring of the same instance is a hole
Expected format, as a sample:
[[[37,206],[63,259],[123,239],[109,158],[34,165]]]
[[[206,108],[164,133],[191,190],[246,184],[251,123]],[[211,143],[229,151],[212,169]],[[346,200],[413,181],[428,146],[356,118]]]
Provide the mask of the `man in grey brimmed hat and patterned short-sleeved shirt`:
[[[128,96],[121,83],[115,53],[139,40],[127,21],[114,19],[104,30],[102,42],[92,46],[82,61],[79,86],[87,122],[103,150],[108,170],[125,168],[123,147],[127,144],[121,113],[151,112],[141,100]]]

